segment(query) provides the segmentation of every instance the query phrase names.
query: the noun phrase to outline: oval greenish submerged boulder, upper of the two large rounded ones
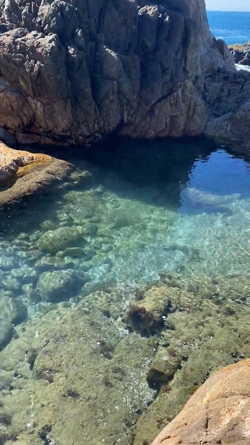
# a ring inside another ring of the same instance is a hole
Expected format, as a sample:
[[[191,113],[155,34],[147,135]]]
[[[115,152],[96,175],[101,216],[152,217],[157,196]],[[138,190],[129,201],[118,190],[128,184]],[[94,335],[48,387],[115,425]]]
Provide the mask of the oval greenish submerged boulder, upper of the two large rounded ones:
[[[55,254],[57,250],[64,250],[67,247],[78,247],[84,241],[77,229],[73,227],[59,227],[42,234],[37,241],[37,246],[42,252]]]

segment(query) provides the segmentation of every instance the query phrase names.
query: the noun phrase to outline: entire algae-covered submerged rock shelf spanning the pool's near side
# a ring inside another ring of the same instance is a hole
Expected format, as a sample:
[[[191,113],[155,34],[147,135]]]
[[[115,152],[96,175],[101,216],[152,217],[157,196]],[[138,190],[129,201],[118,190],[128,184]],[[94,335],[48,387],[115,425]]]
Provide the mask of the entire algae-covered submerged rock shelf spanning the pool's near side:
[[[152,315],[152,295],[157,307],[167,303],[158,335],[126,330],[121,290],[108,288],[16,328],[18,338],[0,352],[0,400],[9,418],[0,437],[8,445],[16,436],[30,445],[72,438],[76,445],[83,438],[86,445],[149,444],[212,370],[250,354],[246,277],[162,279],[131,303],[135,310],[151,298]]]

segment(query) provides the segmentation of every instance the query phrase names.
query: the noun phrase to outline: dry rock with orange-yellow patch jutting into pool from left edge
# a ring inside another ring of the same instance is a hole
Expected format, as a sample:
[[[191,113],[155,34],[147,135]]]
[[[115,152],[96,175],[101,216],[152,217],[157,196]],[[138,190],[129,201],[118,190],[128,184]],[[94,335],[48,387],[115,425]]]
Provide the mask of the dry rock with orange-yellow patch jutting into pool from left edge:
[[[14,150],[0,142],[0,206],[65,178],[71,170],[72,166],[66,161]]]

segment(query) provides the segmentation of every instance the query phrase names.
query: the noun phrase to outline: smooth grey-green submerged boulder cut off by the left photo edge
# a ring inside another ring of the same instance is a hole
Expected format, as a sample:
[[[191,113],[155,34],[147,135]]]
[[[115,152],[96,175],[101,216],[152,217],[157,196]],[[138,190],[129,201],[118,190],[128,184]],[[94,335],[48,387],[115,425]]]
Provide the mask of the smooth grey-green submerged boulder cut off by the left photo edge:
[[[21,323],[27,317],[27,308],[21,300],[0,296],[0,349],[11,339],[13,325]]]

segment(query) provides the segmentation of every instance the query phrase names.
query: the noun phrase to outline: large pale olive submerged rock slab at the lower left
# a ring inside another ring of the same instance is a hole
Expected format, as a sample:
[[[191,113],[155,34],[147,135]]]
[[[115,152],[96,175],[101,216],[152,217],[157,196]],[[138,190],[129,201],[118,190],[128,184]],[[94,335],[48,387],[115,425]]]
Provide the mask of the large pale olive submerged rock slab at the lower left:
[[[8,445],[17,436],[29,445],[131,443],[130,426],[155,395],[145,377],[154,338],[128,334],[84,301],[50,310],[18,335],[0,352]]]

